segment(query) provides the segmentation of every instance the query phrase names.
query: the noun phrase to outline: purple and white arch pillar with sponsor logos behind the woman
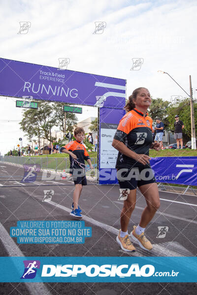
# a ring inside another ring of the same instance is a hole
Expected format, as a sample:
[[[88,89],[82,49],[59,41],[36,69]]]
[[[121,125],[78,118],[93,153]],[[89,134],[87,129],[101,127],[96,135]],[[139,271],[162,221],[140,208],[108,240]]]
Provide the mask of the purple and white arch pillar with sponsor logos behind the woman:
[[[99,184],[114,184],[118,183],[115,169],[118,150],[112,147],[112,142],[125,111],[101,108],[99,115]]]

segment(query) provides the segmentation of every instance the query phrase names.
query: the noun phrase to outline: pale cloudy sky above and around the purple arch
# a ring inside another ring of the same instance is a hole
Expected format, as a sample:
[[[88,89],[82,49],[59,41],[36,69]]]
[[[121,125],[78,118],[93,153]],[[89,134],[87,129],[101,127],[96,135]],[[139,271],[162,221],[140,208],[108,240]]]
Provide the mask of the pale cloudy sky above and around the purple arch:
[[[67,69],[127,80],[127,97],[138,87],[153,98],[170,102],[186,96],[166,74],[189,93],[189,75],[197,89],[196,0],[1,0],[0,58],[52,67],[69,58]],[[18,34],[19,22],[30,22]],[[105,22],[93,34],[95,22]],[[132,70],[133,60],[141,67]],[[196,95],[196,92],[194,91]],[[19,129],[22,110],[16,98],[2,97],[0,152],[28,143]],[[83,107],[78,120],[97,117],[97,108]]]

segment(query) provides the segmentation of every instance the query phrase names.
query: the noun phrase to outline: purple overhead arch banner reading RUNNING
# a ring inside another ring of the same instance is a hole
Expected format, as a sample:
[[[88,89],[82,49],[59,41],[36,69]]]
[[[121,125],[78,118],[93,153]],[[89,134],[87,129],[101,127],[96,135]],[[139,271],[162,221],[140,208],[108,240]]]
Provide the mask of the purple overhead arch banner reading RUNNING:
[[[0,59],[0,95],[123,109],[126,80]]]

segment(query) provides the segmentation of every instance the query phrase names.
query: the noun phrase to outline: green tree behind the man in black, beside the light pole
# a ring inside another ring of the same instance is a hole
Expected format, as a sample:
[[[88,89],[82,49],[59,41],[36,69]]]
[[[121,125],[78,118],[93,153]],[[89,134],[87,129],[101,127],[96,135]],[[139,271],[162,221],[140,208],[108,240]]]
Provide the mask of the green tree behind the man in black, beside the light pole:
[[[186,143],[191,140],[191,114],[190,114],[190,98],[185,98],[179,101],[177,107],[170,104],[167,108],[169,121],[169,129],[174,132],[174,116],[178,115],[179,119],[183,121],[183,141]],[[197,130],[197,103],[194,103],[195,129]]]

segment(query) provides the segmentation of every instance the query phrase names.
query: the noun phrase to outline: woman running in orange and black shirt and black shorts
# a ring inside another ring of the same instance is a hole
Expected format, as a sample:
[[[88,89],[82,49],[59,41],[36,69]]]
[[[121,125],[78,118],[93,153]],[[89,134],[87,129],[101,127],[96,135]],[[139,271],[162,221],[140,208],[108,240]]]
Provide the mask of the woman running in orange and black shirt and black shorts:
[[[120,120],[112,143],[119,151],[117,178],[122,199],[125,200],[120,217],[121,230],[116,240],[125,251],[135,251],[129,239],[128,225],[136,203],[137,186],[145,197],[147,206],[137,227],[133,226],[131,239],[145,250],[153,248],[144,235],[145,228],[160,207],[158,187],[149,162],[149,149],[160,150],[162,147],[160,143],[153,143],[152,119],[147,113],[150,104],[148,89],[140,87],[132,92],[125,107],[127,114]]]

